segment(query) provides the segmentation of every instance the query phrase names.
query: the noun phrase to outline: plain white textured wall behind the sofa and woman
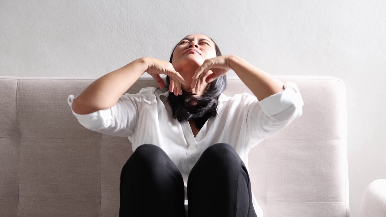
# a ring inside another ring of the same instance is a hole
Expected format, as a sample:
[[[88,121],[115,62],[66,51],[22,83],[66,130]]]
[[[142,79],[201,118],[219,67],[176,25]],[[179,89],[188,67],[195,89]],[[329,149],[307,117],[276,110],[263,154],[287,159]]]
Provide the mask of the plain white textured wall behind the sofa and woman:
[[[100,77],[143,56],[169,61],[193,33],[272,75],[335,76],[357,217],[366,186],[386,178],[385,11],[384,0],[1,0],[0,76]]]

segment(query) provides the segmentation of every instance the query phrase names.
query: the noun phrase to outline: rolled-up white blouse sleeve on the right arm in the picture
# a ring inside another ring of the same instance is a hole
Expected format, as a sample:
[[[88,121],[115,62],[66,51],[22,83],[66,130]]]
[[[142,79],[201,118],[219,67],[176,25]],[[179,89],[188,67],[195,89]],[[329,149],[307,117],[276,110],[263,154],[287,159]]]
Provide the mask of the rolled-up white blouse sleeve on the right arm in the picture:
[[[252,137],[265,139],[287,127],[303,113],[303,99],[296,83],[287,81],[284,90],[258,101],[247,100],[247,129]]]

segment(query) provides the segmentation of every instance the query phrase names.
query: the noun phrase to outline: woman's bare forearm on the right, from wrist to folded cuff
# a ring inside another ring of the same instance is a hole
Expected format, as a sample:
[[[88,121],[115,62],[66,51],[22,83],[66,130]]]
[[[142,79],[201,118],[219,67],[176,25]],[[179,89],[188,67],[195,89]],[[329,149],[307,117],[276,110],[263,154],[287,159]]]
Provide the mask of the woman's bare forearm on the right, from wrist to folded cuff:
[[[230,59],[230,68],[259,101],[284,90],[284,83],[278,78],[237,56]]]

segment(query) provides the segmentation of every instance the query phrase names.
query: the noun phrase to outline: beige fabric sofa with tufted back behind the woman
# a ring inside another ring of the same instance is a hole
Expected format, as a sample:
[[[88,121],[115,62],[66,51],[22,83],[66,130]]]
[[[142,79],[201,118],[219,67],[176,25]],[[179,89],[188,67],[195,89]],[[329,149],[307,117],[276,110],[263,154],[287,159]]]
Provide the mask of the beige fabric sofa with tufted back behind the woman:
[[[344,83],[330,76],[277,77],[295,82],[305,105],[301,117],[249,154],[264,216],[349,217]],[[130,142],[85,129],[67,103],[96,79],[0,77],[0,217],[119,215]],[[140,78],[128,93],[146,86],[156,83]],[[251,93],[228,77],[224,94],[242,92]]]

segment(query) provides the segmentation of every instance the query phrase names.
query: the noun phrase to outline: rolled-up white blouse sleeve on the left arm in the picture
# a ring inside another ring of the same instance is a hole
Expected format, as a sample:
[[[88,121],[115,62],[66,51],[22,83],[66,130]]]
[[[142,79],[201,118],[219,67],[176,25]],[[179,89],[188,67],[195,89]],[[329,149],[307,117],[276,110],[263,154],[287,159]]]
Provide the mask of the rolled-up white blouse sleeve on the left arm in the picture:
[[[67,98],[71,108],[74,95]],[[111,108],[98,110],[90,114],[77,114],[72,108],[73,115],[79,123],[91,131],[112,136],[130,137],[137,122],[137,105],[135,98],[129,93],[122,95]]]

